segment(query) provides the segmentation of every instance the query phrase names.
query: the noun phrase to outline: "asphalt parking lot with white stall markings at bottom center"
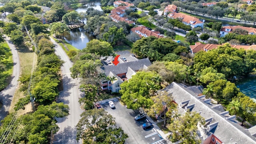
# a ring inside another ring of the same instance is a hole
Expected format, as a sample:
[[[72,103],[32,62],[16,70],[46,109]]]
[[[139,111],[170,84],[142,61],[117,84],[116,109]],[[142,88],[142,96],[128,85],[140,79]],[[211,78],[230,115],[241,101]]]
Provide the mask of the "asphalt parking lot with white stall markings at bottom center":
[[[134,120],[134,117],[139,112],[122,106],[117,98],[111,100],[116,108],[110,108],[108,105],[109,100],[100,102],[100,105],[116,118],[116,125],[122,127],[124,132],[128,134],[129,138],[126,139],[126,144],[165,144],[165,140],[160,138],[155,128],[148,128],[147,130],[142,128],[142,124],[147,122],[147,119]]]

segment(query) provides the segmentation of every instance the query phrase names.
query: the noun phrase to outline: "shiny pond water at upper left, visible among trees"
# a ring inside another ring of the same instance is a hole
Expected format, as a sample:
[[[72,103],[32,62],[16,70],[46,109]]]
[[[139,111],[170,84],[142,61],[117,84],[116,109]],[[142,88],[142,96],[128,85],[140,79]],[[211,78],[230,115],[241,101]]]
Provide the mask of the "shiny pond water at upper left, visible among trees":
[[[88,8],[94,8],[102,11],[100,2],[93,2],[76,9],[77,12],[86,12]],[[86,43],[94,39],[94,36],[84,31],[84,28],[76,28],[70,31],[70,34],[64,34],[64,39],[72,46],[82,50],[86,47]]]

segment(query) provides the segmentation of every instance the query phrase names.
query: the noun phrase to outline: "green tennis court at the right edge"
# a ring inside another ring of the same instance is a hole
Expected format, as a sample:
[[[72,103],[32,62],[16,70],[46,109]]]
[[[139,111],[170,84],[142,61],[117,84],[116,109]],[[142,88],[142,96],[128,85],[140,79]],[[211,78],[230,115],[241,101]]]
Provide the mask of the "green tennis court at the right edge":
[[[240,91],[244,93],[246,96],[249,96],[256,102],[256,80],[251,80],[244,84],[238,85]]]

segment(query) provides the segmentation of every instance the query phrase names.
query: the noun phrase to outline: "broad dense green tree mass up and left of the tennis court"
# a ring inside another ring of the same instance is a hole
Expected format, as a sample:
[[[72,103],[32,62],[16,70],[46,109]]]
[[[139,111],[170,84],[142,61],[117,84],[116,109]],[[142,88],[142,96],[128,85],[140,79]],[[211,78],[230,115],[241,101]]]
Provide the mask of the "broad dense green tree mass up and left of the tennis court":
[[[248,54],[250,55],[250,52]],[[196,53],[194,56],[194,70],[195,72],[202,72],[205,68],[212,67],[218,73],[224,74],[226,78],[243,76],[252,72],[252,67],[246,64],[245,57],[245,50],[238,50],[232,48],[230,44],[224,44],[209,52]],[[253,65],[254,57],[251,60]]]

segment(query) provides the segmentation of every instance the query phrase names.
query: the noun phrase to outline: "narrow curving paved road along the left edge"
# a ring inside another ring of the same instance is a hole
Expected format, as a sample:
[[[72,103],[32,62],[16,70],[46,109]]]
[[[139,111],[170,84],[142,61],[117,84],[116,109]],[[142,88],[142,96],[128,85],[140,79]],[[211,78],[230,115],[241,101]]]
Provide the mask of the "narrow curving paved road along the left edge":
[[[10,38],[6,36],[4,39],[12,51],[12,60],[13,60],[13,72],[12,72],[12,81],[11,83],[0,92],[0,100],[3,102],[3,106],[0,110],[0,121],[5,118],[8,114],[12,98],[14,96],[16,87],[18,85],[18,79],[20,76],[20,58],[18,52],[13,44],[10,43]]]

